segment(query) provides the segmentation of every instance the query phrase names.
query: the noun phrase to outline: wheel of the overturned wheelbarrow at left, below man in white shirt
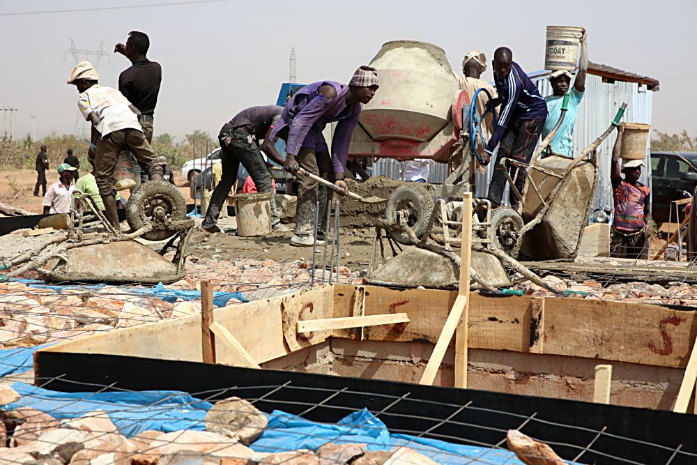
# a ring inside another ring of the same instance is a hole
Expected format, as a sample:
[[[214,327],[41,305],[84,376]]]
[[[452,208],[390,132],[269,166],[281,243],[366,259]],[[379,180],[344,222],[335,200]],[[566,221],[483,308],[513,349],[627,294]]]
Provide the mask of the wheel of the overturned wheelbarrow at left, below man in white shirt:
[[[126,203],[125,213],[128,225],[136,230],[153,222],[153,213],[162,208],[166,218],[184,220],[186,218],[186,203],[181,192],[167,181],[148,181],[135,190]],[[167,229],[153,229],[141,236],[148,241],[164,241],[176,234]]]

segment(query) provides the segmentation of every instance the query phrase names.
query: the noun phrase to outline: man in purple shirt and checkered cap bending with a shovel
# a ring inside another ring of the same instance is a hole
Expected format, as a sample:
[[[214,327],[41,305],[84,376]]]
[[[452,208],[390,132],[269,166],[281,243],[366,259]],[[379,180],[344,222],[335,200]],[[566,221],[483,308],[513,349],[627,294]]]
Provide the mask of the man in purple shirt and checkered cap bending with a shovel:
[[[369,102],[377,89],[376,69],[361,66],[353,74],[348,86],[333,81],[321,81],[309,84],[296,92],[286,103],[281,119],[270,134],[273,140],[280,137],[286,141],[285,169],[294,173],[294,167],[297,165],[336,183],[346,195],[348,188],[344,182],[344,167],[348,146],[351,144],[351,134],[358,123],[360,104]],[[327,123],[334,121],[337,121],[337,126],[332,137],[330,157],[322,130]],[[300,176],[296,229],[291,237],[292,245],[314,244],[314,211],[318,199],[319,218],[326,218],[332,191],[320,187],[317,181],[307,176]],[[317,232],[317,243],[320,244],[326,236],[325,231],[321,229],[320,224]]]

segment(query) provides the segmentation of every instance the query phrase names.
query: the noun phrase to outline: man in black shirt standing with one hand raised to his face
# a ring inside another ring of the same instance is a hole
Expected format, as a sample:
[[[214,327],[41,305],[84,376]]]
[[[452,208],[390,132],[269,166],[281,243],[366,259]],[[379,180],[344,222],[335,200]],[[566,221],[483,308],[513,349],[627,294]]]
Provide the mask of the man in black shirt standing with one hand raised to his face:
[[[131,62],[130,68],[123,70],[121,75],[118,75],[118,91],[140,110],[141,115],[138,116],[138,122],[143,128],[148,144],[152,144],[155,105],[158,104],[162,68],[160,63],[148,60],[146,54],[149,48],[150,38],[146,33],[130,31],[125,45],[116,44],[114,52],[123,54]],[[133,165],[134,167],[139,166],[137,163]],[[140,180],[141,182],[148,181],[148,176],[144,171],[140,171]]]

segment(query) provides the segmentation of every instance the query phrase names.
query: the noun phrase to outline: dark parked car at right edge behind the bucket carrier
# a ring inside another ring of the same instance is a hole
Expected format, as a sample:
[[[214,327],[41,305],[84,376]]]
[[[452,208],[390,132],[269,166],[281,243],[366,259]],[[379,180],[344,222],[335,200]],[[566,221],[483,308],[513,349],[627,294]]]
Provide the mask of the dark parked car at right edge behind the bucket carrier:
[[[697,153],[652,152],[651,183],[653,219],[657,222],[667,222],[671,201],[690,197],[697,186]],[[684,218],[684,205],[680,207],[680,213],[680,219]]]

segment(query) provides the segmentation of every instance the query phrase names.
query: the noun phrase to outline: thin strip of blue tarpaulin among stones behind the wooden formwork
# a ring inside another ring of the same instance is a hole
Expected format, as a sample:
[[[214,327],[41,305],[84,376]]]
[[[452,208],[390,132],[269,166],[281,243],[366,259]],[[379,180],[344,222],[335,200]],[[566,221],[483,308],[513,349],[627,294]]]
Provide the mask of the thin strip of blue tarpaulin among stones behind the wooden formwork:
[[[52,289],[53,291],[61,294],[62,291],[67,291],[68,289],[102,289],[105,284],[46,284],[44,281],[38,280],[11,280],[14,282],[21,282],[28,285],[29,287],[36,287],[39,289]],[[135,294],[141,296],[157,296],[162,300],[167,302],[176,302],[177,298],[182,300],[200,300],[201,291],[182,291],[180,289],[167,289],[161,282],[155,287],[128,287],[119,286],[118,289],[122,289],[124,294]],[[241,292],[214,292],[213,293],[213,304],[216,307],[224,307],[231,299],[240,300],[240,302],[248,302],[247,298]]]

